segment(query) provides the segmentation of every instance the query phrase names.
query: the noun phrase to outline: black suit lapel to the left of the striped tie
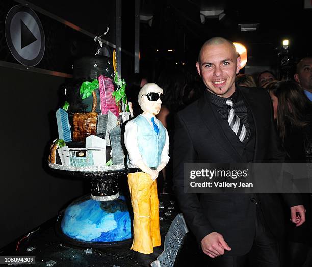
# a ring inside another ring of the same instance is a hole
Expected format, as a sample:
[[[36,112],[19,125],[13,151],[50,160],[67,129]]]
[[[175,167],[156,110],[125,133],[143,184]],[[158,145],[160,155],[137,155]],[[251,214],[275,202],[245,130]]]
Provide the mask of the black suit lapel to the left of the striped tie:
[[[198,101],[198,109],[203,124],[210,131],[211,135],[219,142],[219,145],[235,159],[237,162],[244,162],[243,158],[237,152],[232,145],[231,140],[225,134],[227,130],[231,130],[229,127],[222,125],[222,119],[218,117],[217,112],[211,106],[209,101],[206,101],[206,97],[200,98]]]

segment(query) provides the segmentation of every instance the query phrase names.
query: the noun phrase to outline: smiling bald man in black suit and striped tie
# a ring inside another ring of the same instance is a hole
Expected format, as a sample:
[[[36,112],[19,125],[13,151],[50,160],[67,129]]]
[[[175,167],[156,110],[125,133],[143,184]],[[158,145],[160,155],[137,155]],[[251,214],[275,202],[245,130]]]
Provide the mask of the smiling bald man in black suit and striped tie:
[[[270,97],[263,89],[235,85],[240,57],[231,41],[202,46],[197,71],[207,91],[176,117],[174,189],[190,230],[209,256],[209,266],[282,266],[283,235],[278,194],[186,194],[184,163],[283,162]],[[234,112],[233,112],[234,111]],[[297,226],[305,210],[284,195]],[[296,216],[296,212],[297,216]]]

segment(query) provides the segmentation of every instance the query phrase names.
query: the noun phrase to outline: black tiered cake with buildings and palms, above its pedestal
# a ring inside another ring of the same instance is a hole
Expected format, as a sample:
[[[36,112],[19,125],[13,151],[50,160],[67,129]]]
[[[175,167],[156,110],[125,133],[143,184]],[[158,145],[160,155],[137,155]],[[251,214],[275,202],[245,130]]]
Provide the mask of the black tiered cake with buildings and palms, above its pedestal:
[[[74,80],[64,86],[64,106],[56,112],[59,140],[66,145],[56,140],[50,163],[63,167],[124,163],[119,114],[127,118],[128,114],[126,98],[118,99],[120,83],[107,57],[85,57],[75,62]]]

